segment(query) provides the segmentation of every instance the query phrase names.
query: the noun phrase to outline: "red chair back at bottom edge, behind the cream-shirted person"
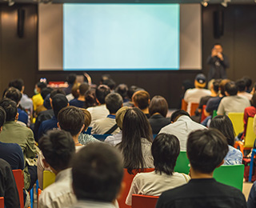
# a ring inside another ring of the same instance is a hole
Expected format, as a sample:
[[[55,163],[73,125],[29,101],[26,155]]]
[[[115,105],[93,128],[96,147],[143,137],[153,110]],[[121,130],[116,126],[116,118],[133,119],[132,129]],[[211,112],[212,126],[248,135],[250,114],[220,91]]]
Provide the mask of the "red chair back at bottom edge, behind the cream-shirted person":
[[[146,196],[133,194],[132,196],[132,208],[154,208],[158,202],[156,196]]]

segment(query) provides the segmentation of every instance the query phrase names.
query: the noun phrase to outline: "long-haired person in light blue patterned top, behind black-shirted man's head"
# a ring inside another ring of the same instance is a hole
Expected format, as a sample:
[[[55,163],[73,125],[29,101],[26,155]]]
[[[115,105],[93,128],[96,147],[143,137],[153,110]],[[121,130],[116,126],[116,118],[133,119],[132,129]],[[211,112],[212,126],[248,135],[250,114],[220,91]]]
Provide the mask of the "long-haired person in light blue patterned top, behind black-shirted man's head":
[[[210,122],[210,128],[219,130],[226,137],[226,142],[229,145],[223,165],[242,164],[242,152],[234,148],[234,128],[230,118],[226,115],[217,115]]]

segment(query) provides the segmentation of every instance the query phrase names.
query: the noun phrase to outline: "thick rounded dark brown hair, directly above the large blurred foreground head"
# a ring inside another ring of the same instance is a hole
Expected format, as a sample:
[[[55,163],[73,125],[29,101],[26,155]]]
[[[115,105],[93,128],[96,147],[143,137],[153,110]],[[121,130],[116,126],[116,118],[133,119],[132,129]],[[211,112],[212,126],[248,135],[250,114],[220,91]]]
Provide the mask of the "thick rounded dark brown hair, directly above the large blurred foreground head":
[[[70,132],[72,136],[77,135],[85,122],[82,110],[75,106],[67,106],[58,113],[58,124],[62,130]]]

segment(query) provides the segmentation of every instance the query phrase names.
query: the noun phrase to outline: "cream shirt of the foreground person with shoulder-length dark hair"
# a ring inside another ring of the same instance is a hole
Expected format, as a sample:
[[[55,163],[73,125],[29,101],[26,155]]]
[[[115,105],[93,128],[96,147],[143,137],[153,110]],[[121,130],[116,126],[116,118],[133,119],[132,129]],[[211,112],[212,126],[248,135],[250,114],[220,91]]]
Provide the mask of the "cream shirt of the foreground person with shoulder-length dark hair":
[[[179,173],[168,175],[155,173],[155,171],[153,171],[136,174],[126,198],[126,205],[131,206],[132,194],[160,196],[162,192],[182,186],[189,180],[190,177],[188,175]]]

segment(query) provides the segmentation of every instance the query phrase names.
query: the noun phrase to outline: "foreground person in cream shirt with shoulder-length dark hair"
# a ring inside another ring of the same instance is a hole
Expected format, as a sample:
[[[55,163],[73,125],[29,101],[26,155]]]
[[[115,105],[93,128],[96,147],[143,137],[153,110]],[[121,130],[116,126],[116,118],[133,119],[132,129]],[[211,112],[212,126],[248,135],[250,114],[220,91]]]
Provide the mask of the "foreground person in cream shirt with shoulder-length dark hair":
[[[162,192],[186,184],[190,177],[174,172],[179,154],[178,138],[171,134],[158,134],[151,147],[154,158],[153,172],[136,174],[126,198],[132,205],[132,194],[159,196]]]

